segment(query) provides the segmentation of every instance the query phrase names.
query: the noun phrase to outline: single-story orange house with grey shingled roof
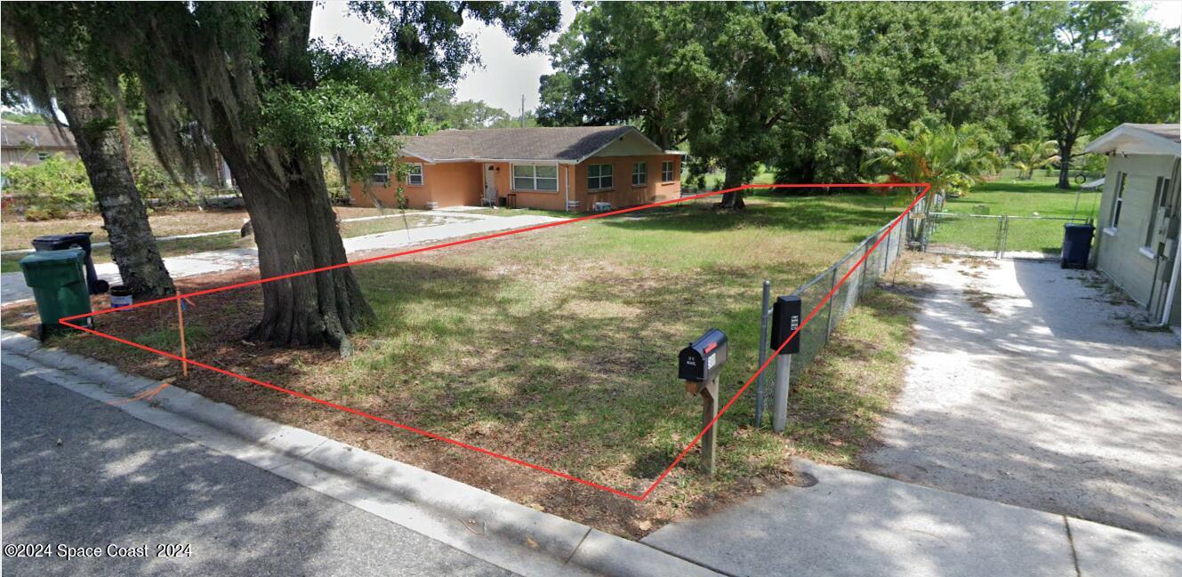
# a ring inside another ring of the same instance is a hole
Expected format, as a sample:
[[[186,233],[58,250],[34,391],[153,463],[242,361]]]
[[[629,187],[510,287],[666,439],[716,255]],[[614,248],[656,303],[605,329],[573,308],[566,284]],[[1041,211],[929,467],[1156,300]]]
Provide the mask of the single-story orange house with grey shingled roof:
[[[441,130],[407,138],[403,194],[409,208],[511,206],[603,210],[681,195],[683,153],[662,150],[632,127]],[[350,182],[358,206],[372,206],[363,182]],[[387,169],[369,194],[397,205]]]

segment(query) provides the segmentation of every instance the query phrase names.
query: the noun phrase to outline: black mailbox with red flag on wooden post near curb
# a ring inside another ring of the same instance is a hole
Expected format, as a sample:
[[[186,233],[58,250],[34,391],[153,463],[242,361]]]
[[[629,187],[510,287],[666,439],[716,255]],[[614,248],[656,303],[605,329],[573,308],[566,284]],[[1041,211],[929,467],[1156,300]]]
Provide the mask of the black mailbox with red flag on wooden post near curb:
[[[710,329],[677,355],[677,378],[686,381],[687,393],[702,396],[703,428],[719,416],[719,372],[728,354],[726,333]],[[714,475],[716,430],[710,427],[702,435],[702,468],[709,475]]]

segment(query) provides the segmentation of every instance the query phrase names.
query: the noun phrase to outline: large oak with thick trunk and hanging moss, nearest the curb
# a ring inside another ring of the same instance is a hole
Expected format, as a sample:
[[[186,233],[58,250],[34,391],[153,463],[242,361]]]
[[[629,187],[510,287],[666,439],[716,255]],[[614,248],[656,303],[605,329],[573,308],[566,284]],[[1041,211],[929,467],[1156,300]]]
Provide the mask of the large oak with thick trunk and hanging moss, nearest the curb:
[[[312,43],[311,2],[129,2],[91,14],[95,35],[143,83],[149,118],[183,106],[226,158],[264,278],[346,262],[320,155],[364,151],[361,142],[394,160],[389,137],[413,123],[410,95],[424,93],[416,86],[454,80],[475,60],[459,32],[465,18],[501,25],[521,52],[559,24],[557,2],[350,7],[382,27],[378,50],[339,57]],[[389,84],[396,89],[374,90]],[[349,335],[372,316],[349,267],[268,281],[262,294],[251,338],[279,345],[329,343],[349,354]]]

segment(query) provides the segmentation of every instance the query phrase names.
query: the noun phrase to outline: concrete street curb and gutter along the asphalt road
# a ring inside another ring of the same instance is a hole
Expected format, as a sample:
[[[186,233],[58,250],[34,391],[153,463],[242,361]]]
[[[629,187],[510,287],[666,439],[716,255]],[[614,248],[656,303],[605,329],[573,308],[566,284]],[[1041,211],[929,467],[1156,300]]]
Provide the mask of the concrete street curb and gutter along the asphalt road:
[[[35,375],[142,421],[226,453],[525,576],[717,576],[649,545],[535,511],[454,479],[275,423],[167,387],[150,402],[121,402],[160,383],[0,331],[6,368]]]

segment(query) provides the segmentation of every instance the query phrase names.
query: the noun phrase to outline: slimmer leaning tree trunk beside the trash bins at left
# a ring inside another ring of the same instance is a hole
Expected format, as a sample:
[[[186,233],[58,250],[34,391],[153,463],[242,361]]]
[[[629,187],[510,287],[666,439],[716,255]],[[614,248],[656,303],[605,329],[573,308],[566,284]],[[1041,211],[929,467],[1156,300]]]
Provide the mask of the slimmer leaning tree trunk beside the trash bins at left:
[[[111,95],[72,58],[63,60],[54,80],[58,106],[86,167],[123,284],[137,298],[170,296],[175,292],[173,279],[156,248],[148,210],[131,176]]]

